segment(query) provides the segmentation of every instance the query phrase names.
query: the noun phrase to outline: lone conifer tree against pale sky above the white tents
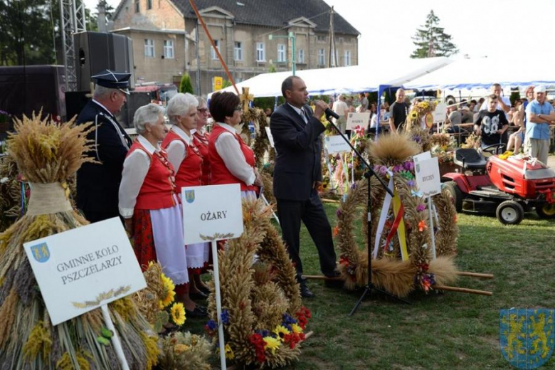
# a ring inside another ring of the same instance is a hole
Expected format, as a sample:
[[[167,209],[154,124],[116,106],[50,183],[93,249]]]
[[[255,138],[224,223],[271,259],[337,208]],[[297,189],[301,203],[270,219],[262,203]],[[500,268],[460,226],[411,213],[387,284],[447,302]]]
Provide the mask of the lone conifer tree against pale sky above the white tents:
[[[458,53],[457,46],[451,42],[451,36],[445,33],[445,28],[439,27],[439,18],[433,10],[426,17],[422,28],[416,29],[413,43],[416,50],[411,58],[432,58],[434,56],[450,56]]]

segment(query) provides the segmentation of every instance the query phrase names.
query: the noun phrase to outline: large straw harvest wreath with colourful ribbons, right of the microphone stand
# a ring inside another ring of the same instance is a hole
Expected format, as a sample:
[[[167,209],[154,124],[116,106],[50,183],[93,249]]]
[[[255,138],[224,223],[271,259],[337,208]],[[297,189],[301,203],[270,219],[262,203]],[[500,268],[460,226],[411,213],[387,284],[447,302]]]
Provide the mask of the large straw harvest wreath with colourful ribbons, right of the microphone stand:
[[[424,135],[423,135],[424,137]],[[439,223],[434,226],[437,258],[432,259],[430,231],[428,230],[428,204],[416,188],[414,164],[411,157],[421,152],[417,142],[408,134],[391,134],[382,136],[369,147],[369,159],[376,174],[388,183],[393,179],[396,197],[404,208],[404,215],[386,210],[390,215],[381,232],[377,255],[372,260],[372,282],[398,297],[406,297],[417,287],[426,292],[435,285],[452,282],[457,270],[453,258],[456,254],[458,228],[456,226],[455,206],[447,191],[433,196],[433,203],[438,213]],[[371,179],[371,219],[378,220],[386,190],[377,179]],[[364,286],[367,282],[368,254],[365,248],[356,244],[353,229],[354,218],[360,207],[367,201],[366,180],[351,186],[347,199],[337,209],[337,248],[340,251],[339,271],[345,280],[347,289]],[[391,202],[393,205],[395,199]],[[398,236],[399,220],[404,224],[404,242]],[[366,236],[366,212],[363,213],[363,230]],[[371,230],[370,250],[374,250],[378,222]],[[404,245],[404,246],[403,246]],[[403,253],[403,248],[406,252]]]

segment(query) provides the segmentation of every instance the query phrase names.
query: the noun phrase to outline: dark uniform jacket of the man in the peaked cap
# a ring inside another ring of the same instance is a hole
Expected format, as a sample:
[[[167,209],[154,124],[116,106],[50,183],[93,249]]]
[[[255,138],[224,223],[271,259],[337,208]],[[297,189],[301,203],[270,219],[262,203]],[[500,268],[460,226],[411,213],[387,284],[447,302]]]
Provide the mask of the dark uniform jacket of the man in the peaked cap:
[[[122,144],[117,127],[125,137],[128,147],[132,142],[115,117],[93,100],[90,100],[77,117],[77,124],[93,122],[95,129],[88,134],[96,149],[88,152],[89,157],[100,163],[84,163],[77,171],[77,206],[86,211],[118,211],[118,191],[122,181],[122,170],[127,147]]]

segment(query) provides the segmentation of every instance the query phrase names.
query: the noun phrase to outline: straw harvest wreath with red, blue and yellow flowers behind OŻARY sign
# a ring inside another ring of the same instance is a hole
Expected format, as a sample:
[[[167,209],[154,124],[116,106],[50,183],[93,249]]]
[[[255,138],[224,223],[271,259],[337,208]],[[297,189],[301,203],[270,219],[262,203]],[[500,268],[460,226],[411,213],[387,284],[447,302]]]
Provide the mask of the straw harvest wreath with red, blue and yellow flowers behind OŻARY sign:
[[[243,201],[243,234],[228,240],[218,259],[226,357],[240,366],[274,369],[298,359],[310,311],[301,305],[295,268],[270,216],[262,201]],[[216,342],[213,293],[208,310],[205,329]]]

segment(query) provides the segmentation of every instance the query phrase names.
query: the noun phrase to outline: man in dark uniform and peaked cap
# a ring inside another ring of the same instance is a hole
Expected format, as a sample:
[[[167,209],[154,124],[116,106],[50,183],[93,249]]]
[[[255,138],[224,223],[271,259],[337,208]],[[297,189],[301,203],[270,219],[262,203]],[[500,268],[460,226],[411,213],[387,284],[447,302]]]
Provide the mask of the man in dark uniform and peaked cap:
[[[93,122],[94,126],[88,139],[93,140],[95,149],[88,156],[96,163],[85,163],[77,171],[77,206],[90,222],[120,216],[117,192],[132,143],[115,115],[127,101],[130,76],[105,70],[91,77],[96,83],[93,99],[77,118],[78,125]]]

